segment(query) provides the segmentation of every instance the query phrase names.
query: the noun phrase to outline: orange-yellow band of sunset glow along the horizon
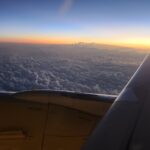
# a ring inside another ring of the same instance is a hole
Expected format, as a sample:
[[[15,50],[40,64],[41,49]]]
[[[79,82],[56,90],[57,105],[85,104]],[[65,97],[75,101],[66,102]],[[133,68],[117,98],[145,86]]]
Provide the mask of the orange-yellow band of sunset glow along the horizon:
[[[131,47],[138,49],[150,49],[150,38],[90,38],[90,37],[48,37],[48,36],[20,36],[0,37],[1,43],[29,43],[29,44],[74,44],[96,43],[114,46]]]

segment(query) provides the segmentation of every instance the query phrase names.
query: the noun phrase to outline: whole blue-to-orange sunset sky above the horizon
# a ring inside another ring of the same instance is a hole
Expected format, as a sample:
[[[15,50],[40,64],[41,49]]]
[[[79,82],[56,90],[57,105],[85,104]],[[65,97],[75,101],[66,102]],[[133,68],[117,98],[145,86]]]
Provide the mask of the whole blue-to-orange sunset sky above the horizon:
[[[0,42],[150,48],[150,0],[0,0]]]

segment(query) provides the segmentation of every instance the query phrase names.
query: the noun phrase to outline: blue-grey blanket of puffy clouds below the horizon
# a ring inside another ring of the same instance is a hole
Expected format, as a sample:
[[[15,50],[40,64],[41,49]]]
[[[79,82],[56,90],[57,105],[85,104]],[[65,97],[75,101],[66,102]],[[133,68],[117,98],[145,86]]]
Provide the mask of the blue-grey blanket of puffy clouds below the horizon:
[[[111,50],[110,50],[111,49]],[[91,45],[0,45],[0,90],[118,94],[144,54]]]

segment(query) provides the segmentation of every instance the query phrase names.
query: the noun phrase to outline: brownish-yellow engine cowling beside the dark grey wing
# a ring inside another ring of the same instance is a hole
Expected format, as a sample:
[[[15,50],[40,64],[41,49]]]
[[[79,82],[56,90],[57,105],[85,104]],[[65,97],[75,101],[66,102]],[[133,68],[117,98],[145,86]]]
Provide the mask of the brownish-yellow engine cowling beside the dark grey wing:
[[[117,96],[0,93],[0,150],[80,150]]]

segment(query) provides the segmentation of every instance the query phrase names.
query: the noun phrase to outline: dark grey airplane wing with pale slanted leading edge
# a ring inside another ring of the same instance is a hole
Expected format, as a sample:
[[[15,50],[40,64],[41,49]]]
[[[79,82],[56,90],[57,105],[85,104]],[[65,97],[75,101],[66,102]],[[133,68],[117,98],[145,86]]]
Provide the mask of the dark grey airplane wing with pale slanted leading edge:
[[[82,150],[150,149],[150,55],[147,56]]]

